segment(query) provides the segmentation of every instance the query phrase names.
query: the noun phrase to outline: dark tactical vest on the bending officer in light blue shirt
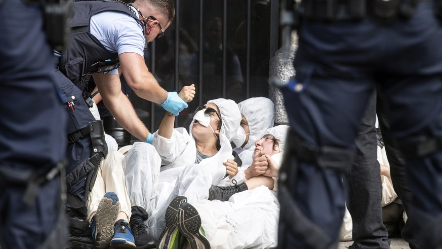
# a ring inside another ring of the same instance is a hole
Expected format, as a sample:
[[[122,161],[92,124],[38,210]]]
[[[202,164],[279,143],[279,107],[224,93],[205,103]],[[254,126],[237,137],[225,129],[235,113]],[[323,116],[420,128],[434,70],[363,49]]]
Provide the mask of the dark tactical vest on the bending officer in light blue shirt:
[[[103,11],[118,11],[127,13],[141,24],[138,17],[129,6],[116,1],[84,1],[72,4],[72,32],[68,48],[60,58],[60,72],[84,91],[90,74],[99,71],[99,61],[109,60],[113,65],[118,64],[118,54],[108,51],[90,33],[91,17]],[[140,32],[142,30],[140,29]],[[111,67],[109,63],[106,64]],[[113,68],[112,68],[113,69]]]

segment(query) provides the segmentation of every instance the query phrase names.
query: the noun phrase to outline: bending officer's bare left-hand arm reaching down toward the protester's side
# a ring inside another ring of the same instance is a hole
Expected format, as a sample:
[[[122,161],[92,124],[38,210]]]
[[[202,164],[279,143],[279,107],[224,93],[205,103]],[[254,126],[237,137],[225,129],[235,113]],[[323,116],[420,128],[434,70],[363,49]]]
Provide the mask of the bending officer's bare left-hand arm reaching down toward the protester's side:
[[[119,76],[96,73],[93,77],[104,104],[118,124],[144,141],[149,134],[149,130],[138,118],[128,97],[121,91]]]

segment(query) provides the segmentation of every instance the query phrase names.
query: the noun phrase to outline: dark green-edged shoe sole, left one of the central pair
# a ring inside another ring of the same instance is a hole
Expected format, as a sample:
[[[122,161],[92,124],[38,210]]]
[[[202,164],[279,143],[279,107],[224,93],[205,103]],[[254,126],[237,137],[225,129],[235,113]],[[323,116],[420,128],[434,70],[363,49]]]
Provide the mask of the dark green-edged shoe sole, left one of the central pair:
[[[168,249],[170,247],[170,241],[175,229],[177,228],[177,215],[178,209],[183,203],[187,202],[187,197],[178,196],[172,200],[166,209],[166,228],[161,233],[160,241],[158,243],[158,249]]]

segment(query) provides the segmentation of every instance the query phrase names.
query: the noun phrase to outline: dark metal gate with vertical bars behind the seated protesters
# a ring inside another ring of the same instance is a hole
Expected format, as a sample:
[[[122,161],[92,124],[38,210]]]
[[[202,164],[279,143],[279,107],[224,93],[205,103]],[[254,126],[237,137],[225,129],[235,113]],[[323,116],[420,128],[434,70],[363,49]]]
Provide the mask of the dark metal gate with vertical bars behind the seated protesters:
[[[278,49],[277,0],[176,0],[174,22],[165,36],[150,43],[145,60],[167,91],[195,84],[189,108],[176,127],[188,127],[193,111],[210,99],[237,103],[268,97],[269,60]],[[131,96],[141,120],[155,131],[165,111]]]

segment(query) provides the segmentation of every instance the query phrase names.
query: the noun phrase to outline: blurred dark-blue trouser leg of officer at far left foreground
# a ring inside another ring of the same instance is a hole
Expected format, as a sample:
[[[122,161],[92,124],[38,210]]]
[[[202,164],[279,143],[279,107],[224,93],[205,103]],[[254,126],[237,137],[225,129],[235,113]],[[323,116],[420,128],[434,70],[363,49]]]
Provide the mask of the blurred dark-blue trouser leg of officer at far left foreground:
[[[62,248],[66,115],[44,8],[0,1],[0,244]]]

